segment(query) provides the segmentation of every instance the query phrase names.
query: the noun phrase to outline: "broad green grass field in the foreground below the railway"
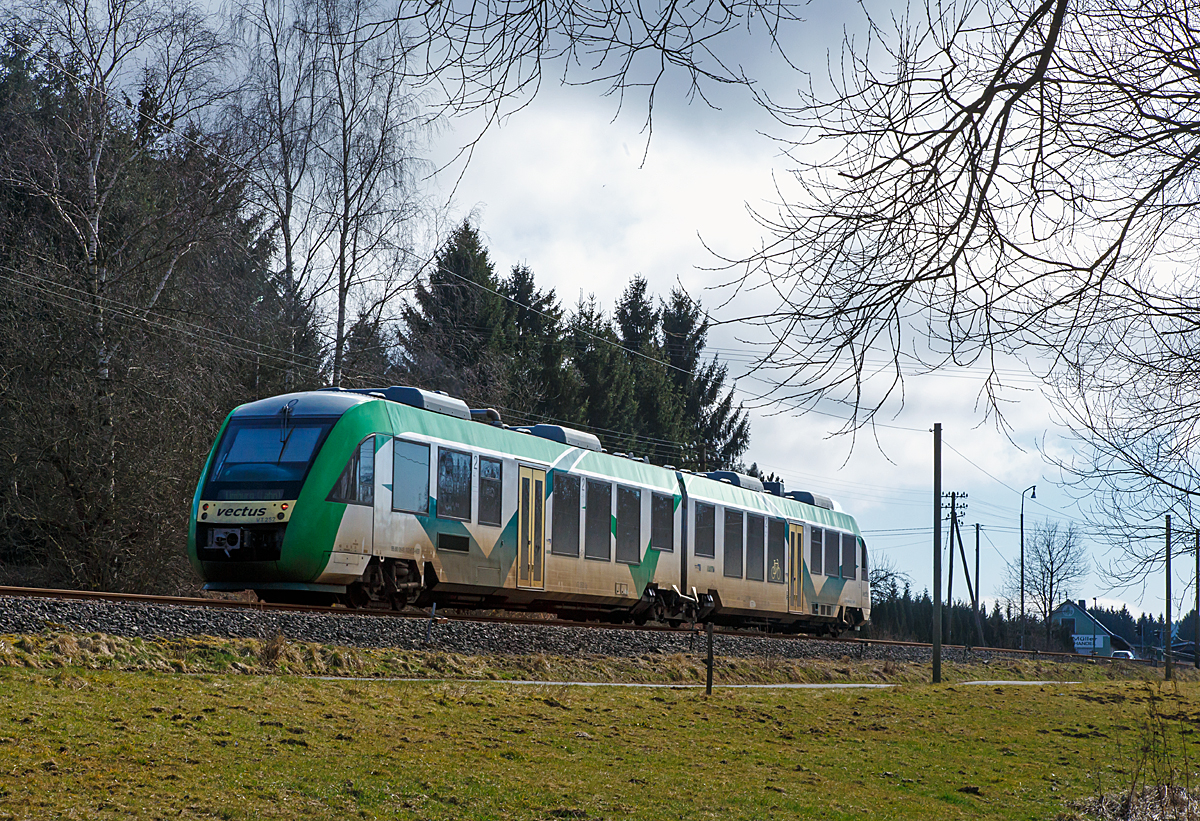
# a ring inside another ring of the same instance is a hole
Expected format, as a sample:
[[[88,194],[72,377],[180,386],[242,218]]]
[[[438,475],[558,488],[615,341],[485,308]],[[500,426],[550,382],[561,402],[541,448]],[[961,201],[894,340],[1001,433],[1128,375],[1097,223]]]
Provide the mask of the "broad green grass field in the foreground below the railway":
[[[1200,723],[1195,683],[1086,665],[1054,665],[1084,684],[931,687],[893,669],[912,681],[706,697],[307,678],[281,665],[317,651],[286,642],[252,648],[275,672],[246,675],[232,665],[248,645],[211,642],[203,661],[164,646],[0,640],[0,663],[24,660],[0,667],[0,817],[1070,819],[1135,772],[1186,778]],[[156,653],[222,672],[160,671]]]

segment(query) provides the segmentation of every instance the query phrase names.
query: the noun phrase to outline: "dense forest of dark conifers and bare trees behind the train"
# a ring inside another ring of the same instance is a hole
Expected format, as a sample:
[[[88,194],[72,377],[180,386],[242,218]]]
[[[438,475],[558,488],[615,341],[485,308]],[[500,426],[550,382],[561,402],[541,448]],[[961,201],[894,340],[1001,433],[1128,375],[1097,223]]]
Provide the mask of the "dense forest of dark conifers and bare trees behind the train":
[[[307,42],[262,35],[268,11],[223,41],[186,6],[70,6],[10,19],[0,47],[0,582],[194,591],[212,438],[288,390],[413,384],[656,463],[739,465],[749,423],[683,290],[635,276],[611,312],[564,306],[529,266],[498,272],[470,222],[422,262],[419,109],[329,35],[361,4],[299,6],[349,14],[290,20]]]

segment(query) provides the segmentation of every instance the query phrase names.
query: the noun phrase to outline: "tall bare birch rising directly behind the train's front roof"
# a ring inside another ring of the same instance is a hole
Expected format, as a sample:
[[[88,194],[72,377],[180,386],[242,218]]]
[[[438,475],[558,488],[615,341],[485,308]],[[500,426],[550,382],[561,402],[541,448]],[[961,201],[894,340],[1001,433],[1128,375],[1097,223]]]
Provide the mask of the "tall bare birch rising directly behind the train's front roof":
[[[370,0],[262,0],[238,17],[250,82],[235,121],[296,312],[329,306],[335,385],[350,314],[378,316],[419,268],[419,149],[433,118],[410,85],[409,43],[373,25],[379,13]]]

